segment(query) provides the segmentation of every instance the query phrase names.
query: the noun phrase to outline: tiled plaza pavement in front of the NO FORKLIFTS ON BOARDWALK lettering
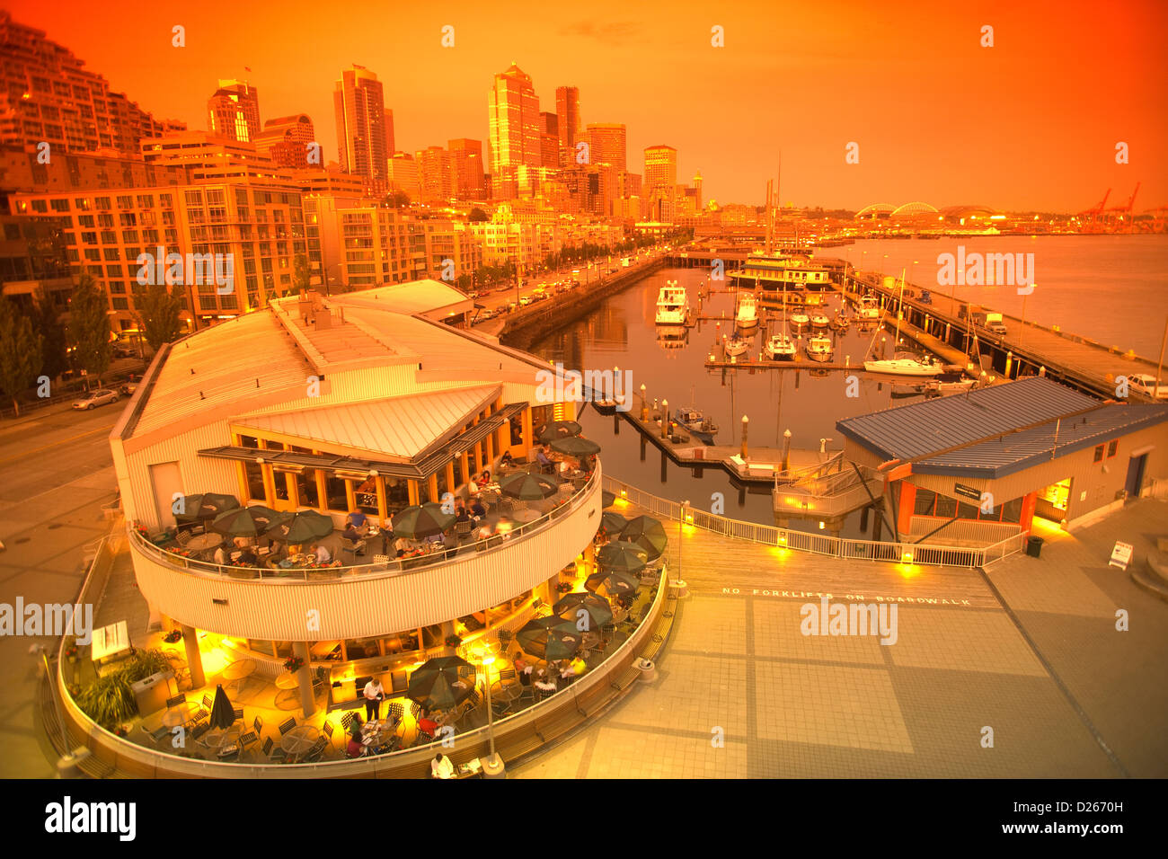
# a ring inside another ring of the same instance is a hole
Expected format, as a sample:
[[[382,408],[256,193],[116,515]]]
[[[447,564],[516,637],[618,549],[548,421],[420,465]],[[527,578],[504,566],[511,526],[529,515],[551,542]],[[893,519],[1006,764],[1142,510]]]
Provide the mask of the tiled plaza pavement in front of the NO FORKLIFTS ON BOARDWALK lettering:
[[[1125,539],[1142,562],[1168,533],[1166,513],[1168,504],[1143,500],[1073,535],[1049,534],[1040,560],[969,570],[987,601],[901,604],[890,646],[801,635],[805,597],[691,589],[658,680],[509,775],[1163,777],[1168,604],[1107,557]],[[686,539],[688,550],[710,538]],[[821,560],[801,566],[785,564],[801,589],[827,580]],[[874,570],[847,570],[857,593]],[[840,570],[829,575],[837,586]],[[1127,632],[1115,630],[1118,608],[1129,611]]]

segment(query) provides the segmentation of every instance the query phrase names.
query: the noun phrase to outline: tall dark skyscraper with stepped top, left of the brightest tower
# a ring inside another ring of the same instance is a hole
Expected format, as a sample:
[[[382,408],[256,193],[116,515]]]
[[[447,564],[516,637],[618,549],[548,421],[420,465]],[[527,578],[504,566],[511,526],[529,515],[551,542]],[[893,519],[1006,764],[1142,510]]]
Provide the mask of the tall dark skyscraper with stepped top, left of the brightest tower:
[[[363,65],[341,72],[333,93],[341,169],[364,176],[375,194],[388,187],[385,98],[377,76]]]

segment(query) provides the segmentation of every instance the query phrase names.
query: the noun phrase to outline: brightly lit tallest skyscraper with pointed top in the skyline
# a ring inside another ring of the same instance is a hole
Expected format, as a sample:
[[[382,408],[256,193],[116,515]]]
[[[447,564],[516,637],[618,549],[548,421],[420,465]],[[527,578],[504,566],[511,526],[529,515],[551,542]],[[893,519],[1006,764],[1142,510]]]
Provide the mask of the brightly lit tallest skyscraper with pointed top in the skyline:
[[[520,165],[538,167],[540,99],[535,96],[531,76],[512,63],[495,75],[487,102],[491,125],[491,175],[496,196],[506,195]]]

